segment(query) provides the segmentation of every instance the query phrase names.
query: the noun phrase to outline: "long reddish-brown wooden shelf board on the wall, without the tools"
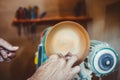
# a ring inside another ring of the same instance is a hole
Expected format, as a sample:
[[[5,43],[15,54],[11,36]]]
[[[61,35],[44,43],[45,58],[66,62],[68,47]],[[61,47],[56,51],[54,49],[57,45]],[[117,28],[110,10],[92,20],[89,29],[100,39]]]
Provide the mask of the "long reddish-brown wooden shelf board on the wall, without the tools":
[[[59,22],[59,21],[84,21],[84,22],[88,22],[90,20],[92,20],[90,17],[88,16],[79,16],[79,17],[73,17],[73,16],[66,16],[66,17],[44,17],[44,18],[38,18],[38,19],[13,19],[13,24],[19,24],[19,23],[46,23],[46,22]]]

